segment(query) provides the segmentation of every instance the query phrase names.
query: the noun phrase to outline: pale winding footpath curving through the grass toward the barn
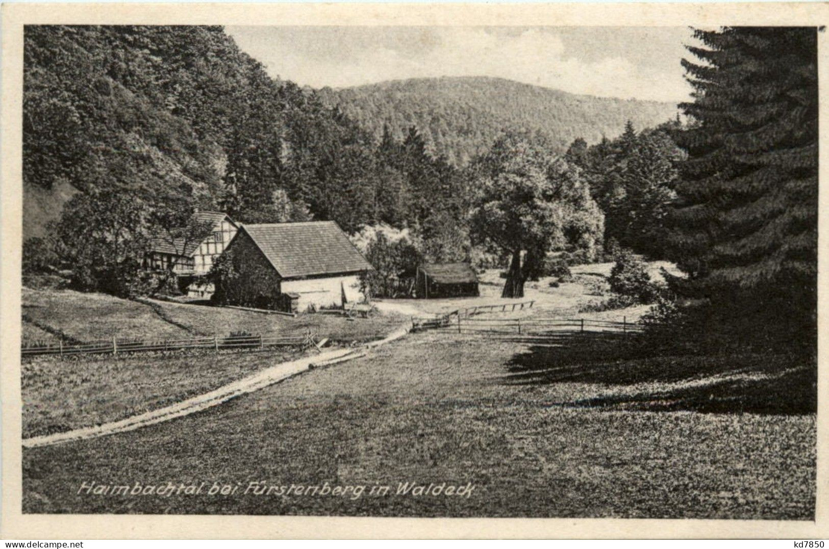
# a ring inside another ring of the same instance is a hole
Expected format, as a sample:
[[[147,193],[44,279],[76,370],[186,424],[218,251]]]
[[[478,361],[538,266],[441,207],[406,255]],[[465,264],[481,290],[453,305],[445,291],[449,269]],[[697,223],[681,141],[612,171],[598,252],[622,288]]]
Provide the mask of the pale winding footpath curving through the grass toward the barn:
[[[247,378],[241,378],[235,382],[223,385],[211,392],[198,395],[196,397],[187,398],[182,402],[177,402],[170,406],[158,408],[150,412],[144,412],[137,416],[128,417],[119,421],[110,421],[98,426],[83,427],[73,431],[64,431],[60,433],[52,433],[51,435],[32,436],[23,439],[22,445],[24,448],[36,448],[39,446],[51,446],[56,444],[63,444],[71,441],[83,441],[85,439],[96,438],[99,436],[113,435],[115,433],[122,433],[124,431],[134,431],[141,427],[155,425],[162,421],[169,421],[176,417],[188,416],[192,413],[201,412],[209,407],[218,406],[222,402],[227,402],[231,398],[239,397],[248,392],[258,391],[261,388],[268,387],[274,383],[278,383],[284,379],[290,378],[303,373],[312,368],[320,366],[328,366],[330,364],[338,364],[351,359],[357,359],[365,356],[368,349],[378,347],[390,341],[399,340],[409,333],[409,328],[400,328],[387,335],[382,340],[371,341],[370,343],[355,347],[353,349],[336,349],[328,351],[327,353],[317,354],[303,359],[292,360],[276,364],[269,368],[257,372]]]

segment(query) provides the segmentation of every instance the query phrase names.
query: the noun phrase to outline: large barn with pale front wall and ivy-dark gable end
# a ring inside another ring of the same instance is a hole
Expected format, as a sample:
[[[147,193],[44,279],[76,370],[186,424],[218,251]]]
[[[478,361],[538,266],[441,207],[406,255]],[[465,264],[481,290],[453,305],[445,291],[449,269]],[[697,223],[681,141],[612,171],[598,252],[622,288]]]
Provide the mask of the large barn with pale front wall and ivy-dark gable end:
[[[242,224],[225,256],[216,301],[277,311],[361,301],[360,275],[371,270],[333,221]]]

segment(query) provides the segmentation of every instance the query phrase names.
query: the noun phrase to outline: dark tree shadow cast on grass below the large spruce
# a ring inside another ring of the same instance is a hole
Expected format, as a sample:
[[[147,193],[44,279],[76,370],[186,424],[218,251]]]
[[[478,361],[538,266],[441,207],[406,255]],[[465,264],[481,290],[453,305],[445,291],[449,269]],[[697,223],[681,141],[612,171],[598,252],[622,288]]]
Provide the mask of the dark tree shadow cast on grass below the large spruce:
[[[654,356],[656,354],[656,356]],[[817,361],[796,354],[657,354],[642,341],[584,336],[533,345],[507,364],[502,383],[596,384],[572,407],[649,412],[799,415],[817,412]]]

